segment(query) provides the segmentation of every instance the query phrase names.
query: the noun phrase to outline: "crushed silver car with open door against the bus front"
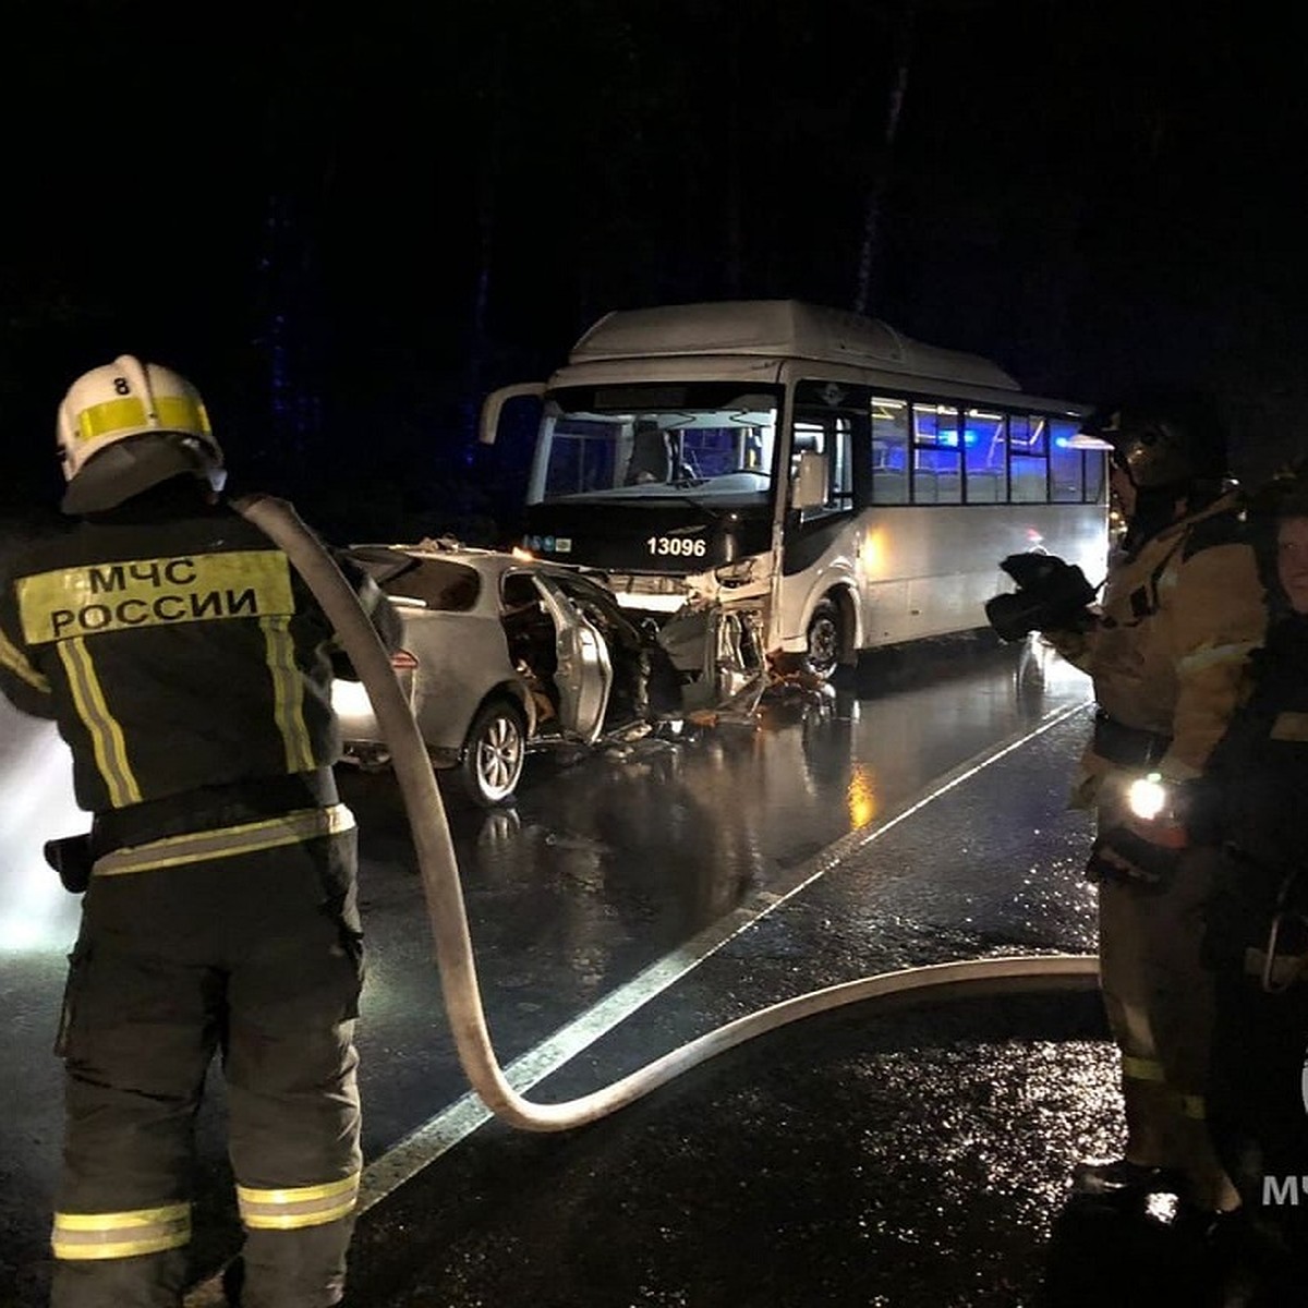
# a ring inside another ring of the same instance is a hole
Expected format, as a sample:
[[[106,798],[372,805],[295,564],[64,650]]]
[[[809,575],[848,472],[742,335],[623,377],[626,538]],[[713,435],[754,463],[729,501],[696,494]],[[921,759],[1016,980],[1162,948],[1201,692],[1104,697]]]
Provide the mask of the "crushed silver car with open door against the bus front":
[[[509,803],[528,751],[633,739],[748,713],[766,671],[759,633],[721,611],[641,617],[603,578],[450,540],[354,545],[400,612],[392,658],[436,768],[479,804]],[[345,759],[385,766],[360,683],[336,681]]]

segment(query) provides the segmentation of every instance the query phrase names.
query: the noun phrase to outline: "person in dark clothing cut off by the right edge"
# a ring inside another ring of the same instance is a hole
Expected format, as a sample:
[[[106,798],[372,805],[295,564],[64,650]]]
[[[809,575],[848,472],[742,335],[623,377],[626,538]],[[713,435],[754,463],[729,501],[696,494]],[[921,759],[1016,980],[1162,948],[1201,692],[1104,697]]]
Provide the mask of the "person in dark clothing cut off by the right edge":
[[[1273,1308],[1308,1284],[1308,467],[1277,477],[1249,517],[1271,621],[1184,811],[1216,858],[1209,1126],[1244,1201],[1249,1301]]]

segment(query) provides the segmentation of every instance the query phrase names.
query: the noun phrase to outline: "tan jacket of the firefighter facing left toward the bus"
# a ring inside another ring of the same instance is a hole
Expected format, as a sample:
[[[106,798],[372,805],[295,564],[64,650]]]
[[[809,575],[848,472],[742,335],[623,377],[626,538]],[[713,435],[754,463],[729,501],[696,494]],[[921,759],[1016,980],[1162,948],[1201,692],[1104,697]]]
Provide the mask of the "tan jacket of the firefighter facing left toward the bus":
[[[1233,493],[1110,560],[1086,629],[1046,633],[1091,675],[1099,706],[1073,802],[1101,803],[1114,773],[1198,776],[1265,629],[1264,586]]]

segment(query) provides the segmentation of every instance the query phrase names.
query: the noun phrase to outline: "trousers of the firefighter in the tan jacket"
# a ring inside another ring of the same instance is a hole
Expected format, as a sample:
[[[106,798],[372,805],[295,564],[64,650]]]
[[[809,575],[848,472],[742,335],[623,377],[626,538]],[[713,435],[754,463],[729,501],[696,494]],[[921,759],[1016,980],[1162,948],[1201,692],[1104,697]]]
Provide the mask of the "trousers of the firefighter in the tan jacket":
[[[1211,867],[1182,857],[1162,887],[1099,886],[1099,963],[1121,1052],[1126,1156],[1185,1173],[1192,1202],[1239,1205],[1209,1138],[1213,974],[1199,961]]]

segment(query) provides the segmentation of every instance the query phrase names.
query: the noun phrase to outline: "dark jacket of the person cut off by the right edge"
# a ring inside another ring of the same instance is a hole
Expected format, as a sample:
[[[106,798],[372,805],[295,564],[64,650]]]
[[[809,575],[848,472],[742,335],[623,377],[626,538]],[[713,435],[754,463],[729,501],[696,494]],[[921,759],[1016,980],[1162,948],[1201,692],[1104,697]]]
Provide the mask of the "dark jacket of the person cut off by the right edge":
[[[1305,797],[1308,616],[1288,613],[1253,653],[1244,702],[1192,790],[1188,827],[1226,854],[1210,952],[1262,946],[1277,913],[1287,922],[1282,947],[1308,947]]]

